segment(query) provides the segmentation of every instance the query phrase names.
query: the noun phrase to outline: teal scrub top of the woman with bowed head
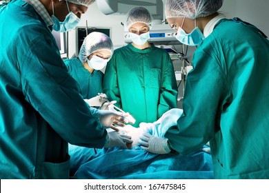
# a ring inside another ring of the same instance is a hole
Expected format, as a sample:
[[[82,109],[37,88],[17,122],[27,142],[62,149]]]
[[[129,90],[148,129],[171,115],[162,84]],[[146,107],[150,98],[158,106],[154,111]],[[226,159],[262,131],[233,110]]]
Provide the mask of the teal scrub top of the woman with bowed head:
[[[64,61],[69,74],[79,83],[83,99],[90,99],[103,93],[103,72],[94,70],[90,73],[78,58]]]

